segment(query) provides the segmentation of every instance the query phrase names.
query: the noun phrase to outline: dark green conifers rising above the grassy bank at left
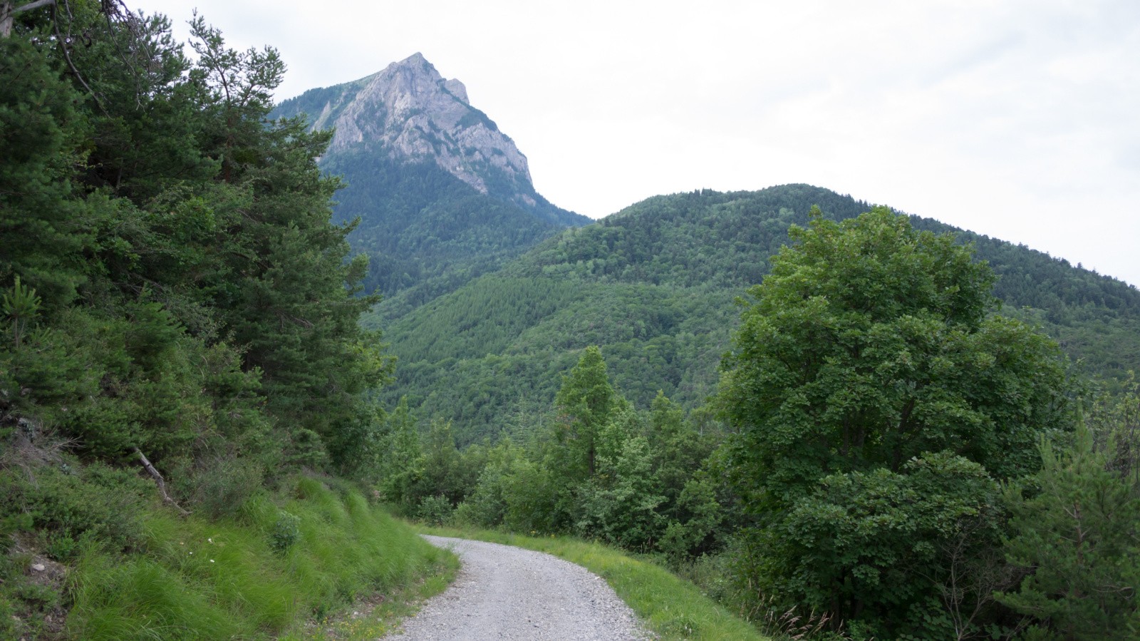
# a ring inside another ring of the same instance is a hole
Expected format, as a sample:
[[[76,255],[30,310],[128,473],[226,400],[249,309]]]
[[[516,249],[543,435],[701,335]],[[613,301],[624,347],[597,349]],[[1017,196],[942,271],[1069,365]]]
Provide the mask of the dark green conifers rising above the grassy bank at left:
[[[165,17],[115,2],[15,11],[0,38],[0,546],[63,562],[137,550],[156,482],[220,516],[300,469],[369,473],[383,413],[364,392],[392,362],[358,325],[375,300],[358,295],[350,228],[331,222],[340,182],[314,161],[328,135],[266,117],[277,52],[229,49],[195,17],[192,62]],[[6,612],[24,607],[7,600],[24,571],[8,559]]]

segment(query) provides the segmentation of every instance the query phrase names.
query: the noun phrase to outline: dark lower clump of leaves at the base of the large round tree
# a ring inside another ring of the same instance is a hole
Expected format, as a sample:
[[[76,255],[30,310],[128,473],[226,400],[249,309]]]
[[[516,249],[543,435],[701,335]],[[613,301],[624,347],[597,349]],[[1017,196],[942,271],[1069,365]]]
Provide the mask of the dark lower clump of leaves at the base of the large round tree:
[[[967,534],[971,547],[996,541],[996,484],[982,465],[946,453],[928,454],[907,461],[901,473],[878,468],[820,482],[766,541],[771,561],[788,566],[764,578],[790,582],[765,584],[765,591],[787,590],[842,620],[877,626],[903,619],[914,626],[911,630],[922,631],[912,633],[953,634],[946,624],[939,628],[923,620],[923,610],[929,608],[929,578],[937,577],[951,545]],[[930,576],[915,576],[915,568],[931,568]],[[899,624],[894,625],[893,634],[898,634]]]

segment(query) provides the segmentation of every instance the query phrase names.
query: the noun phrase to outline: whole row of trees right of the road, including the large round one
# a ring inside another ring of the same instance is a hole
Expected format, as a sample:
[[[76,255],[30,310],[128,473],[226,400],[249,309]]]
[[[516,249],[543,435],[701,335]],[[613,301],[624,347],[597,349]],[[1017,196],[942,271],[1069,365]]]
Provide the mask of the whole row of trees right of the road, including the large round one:
[[[382,494],[654,557],[789,638],[1140,633],[1135,380],[1090,387],[994,314],[993,271],[952,235],[879,208],[791,240],[707,405],[638,407],[587,347],[497,443],[417,435],[401,403]]]

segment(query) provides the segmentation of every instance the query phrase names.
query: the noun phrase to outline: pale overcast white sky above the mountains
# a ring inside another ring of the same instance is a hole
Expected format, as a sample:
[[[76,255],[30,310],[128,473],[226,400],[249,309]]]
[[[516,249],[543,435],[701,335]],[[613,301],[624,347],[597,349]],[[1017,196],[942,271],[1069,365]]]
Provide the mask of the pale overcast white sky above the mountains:
[[[808,182],[1140,285],[1140,1],[128,0],[288,65],[278,99],[421,51],[600,218]]]

